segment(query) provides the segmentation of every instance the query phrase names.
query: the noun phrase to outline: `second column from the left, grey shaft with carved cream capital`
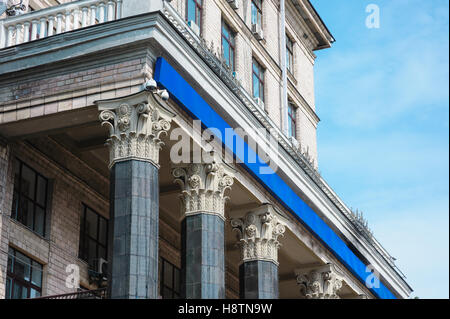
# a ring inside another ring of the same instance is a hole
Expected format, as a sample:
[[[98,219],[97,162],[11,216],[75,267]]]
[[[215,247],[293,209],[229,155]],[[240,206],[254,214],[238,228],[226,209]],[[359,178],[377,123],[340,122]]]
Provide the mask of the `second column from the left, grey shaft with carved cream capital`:
[[[172,171],[182,189],[182,293],[187,299],[225,298],[225,191],[233,170],[211,163],[182,164]]]

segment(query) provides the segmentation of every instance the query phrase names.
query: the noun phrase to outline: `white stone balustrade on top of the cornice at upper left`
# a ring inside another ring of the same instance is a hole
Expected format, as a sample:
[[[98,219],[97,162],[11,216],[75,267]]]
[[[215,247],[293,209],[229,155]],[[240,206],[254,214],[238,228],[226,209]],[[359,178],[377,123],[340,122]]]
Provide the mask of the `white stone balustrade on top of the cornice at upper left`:
[[[123,0],[81,0],[0,20],[0,49],[122,17]]]

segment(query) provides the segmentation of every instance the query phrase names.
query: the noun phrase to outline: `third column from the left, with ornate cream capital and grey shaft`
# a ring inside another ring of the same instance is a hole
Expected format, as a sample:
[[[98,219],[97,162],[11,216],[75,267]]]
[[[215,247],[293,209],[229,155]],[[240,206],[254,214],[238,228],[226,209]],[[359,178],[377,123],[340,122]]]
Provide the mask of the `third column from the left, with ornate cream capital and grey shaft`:
[[[278,237],[285,232],[271,205],[263,205],[244,218],[231,221],[238,233],[242,263],[239,266],[242,299],[278,298]]]

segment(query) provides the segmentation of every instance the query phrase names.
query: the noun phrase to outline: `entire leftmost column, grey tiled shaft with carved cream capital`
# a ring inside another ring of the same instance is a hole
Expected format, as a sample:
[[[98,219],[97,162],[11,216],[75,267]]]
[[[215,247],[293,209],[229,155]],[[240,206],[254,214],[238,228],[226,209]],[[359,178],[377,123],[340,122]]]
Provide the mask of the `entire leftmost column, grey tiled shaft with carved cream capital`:
[[[96,102],[110,130],[111,298],[158,297],[159,151],[173,117],[167,97],[155,89]]]

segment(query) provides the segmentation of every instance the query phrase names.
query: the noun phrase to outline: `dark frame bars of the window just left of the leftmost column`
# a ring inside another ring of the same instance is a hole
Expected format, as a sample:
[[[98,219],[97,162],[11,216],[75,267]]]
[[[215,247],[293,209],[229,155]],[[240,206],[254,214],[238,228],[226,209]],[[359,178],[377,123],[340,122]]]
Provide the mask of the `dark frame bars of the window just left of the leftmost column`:
[[[92,209],[90,206],[82,203],[83,212],[80,215],[80,239],[78,245],[78,258],[87,262],[89,266],[95,267],[95,260],[99,260],[99,258],[103,258],[99,256],[99,247],[103,248],[105,251],[105,260],[108,260],[108,238],[109,238],[109,220],[104,216],[100,215],[97,211]],[[96,238],[93,238],[89,232],[86,230],[86,221],[87,221],[87,212],[88,210],[96,215],[97,217],[97,230],[96,230]],[[106,235],[105,235],[105,244],[102,244],[100,241],[100,220],[103,219],[106,225]],[[82,222],[84,223],[82,224]],[[95,256],[89,256],[89,241],[93,241],[95,243]]]

